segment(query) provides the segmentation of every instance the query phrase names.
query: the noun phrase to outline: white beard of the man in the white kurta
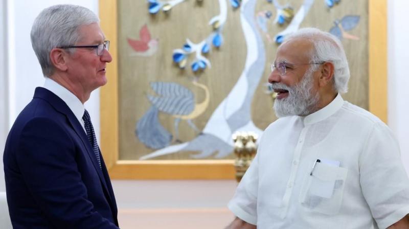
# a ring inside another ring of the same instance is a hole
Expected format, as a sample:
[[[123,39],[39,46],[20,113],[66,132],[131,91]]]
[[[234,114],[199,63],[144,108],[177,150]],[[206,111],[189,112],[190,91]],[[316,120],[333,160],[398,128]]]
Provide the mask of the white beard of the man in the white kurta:
[[[272,89],[288,90],[288,97],[276,99],[274,110],[276,116],[281,118],[285,116],[307,116],[315,112],[319,94],[313,93],[313,71],[308,70],[303,79],[294,86],[287,86],[283,83],[271,84]]]

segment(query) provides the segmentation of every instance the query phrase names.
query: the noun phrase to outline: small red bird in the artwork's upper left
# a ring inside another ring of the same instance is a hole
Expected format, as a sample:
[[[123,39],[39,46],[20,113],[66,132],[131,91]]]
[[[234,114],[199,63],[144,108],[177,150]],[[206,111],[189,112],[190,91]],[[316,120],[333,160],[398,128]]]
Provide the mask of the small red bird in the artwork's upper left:
[[[134,40],[127,38],[128,44],[132,47],[133,51],[131,56],[152,56],[158,45],[158,39],[152,39],[148,26],[145,24],[139,31],[140,40]]]

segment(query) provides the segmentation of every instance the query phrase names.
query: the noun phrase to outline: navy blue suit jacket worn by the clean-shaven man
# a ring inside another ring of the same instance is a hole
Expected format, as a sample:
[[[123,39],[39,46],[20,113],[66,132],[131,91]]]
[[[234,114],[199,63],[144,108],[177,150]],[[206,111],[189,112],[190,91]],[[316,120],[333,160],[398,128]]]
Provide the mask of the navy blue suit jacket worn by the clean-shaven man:
[[[7,202],[14,228],[118,228],[117,203],[71,109],[37,87],[4,151]]]

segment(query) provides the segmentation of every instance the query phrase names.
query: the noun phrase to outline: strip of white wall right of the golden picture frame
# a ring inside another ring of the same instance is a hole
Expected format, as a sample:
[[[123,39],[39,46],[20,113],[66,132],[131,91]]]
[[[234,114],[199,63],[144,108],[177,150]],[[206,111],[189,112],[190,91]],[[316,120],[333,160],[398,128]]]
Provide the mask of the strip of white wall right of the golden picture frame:
[[[409,1],[388,1],[388,124],[409,174]],[[383,93],[379,91],[379,93]]]

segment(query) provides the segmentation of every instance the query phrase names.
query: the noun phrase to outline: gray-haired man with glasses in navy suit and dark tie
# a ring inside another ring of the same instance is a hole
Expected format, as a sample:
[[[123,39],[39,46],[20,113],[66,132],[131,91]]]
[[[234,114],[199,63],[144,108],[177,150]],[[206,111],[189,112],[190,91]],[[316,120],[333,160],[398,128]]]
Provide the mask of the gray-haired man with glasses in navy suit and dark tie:
[[[117,204],[84,103],[106,84],[112,57],[98,16],[44,9],[31,42],[46,78],[21,111],[4,152],[14,228],[119,228]]]

